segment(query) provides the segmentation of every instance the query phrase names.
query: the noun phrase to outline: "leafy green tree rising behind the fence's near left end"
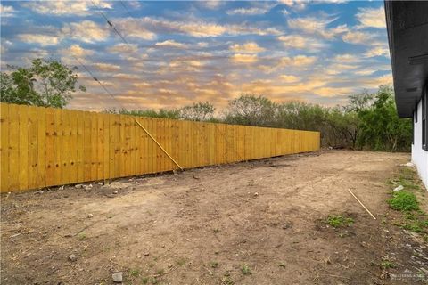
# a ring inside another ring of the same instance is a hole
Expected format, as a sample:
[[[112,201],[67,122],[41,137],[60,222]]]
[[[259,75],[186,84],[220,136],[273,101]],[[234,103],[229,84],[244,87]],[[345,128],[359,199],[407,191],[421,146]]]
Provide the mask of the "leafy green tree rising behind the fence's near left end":
[[[76,92],[77,68],[60,61],[36,59],[29,68],[10,68],[11,73],[1,73],[1,102],[63,108]]]

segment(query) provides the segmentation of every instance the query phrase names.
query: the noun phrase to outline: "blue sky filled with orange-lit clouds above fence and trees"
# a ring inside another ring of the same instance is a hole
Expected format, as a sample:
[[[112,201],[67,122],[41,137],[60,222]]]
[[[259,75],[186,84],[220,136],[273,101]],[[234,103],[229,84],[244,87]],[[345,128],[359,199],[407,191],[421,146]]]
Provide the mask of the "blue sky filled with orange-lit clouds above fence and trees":
[[[334,106],[392,82],[383,1],[1,1],[2,71],[39,57],[78,67],[80,110]]]

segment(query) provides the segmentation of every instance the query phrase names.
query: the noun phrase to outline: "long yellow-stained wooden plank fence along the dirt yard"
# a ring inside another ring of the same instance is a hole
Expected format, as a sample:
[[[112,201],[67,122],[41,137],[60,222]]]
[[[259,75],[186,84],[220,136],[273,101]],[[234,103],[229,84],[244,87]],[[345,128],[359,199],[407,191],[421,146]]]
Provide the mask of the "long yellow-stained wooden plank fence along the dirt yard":
[[[319,149],[317,132],[0,107],[2,192],[177,169],[142,126],[183,168]]]

